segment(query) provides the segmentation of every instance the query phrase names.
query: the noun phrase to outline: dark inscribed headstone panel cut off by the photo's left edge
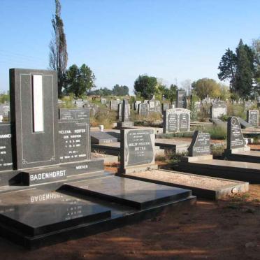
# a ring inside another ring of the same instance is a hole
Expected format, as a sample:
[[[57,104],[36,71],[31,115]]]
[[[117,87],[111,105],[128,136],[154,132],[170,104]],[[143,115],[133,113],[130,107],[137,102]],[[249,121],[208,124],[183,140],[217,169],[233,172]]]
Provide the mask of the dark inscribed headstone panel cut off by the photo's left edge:
[[[0,172],[13,169],[11,137],[10,123],[0,123]]]

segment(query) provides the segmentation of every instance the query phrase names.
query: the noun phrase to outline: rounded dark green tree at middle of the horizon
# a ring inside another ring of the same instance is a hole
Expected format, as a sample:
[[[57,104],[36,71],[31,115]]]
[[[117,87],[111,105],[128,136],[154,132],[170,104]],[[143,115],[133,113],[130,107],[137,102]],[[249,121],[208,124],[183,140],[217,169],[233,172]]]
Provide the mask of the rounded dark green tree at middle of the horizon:
[[[139,75],[134,82],[135,94],[140,94],[144,99],[151,99],[155,93],[157,78],[148,75]]]

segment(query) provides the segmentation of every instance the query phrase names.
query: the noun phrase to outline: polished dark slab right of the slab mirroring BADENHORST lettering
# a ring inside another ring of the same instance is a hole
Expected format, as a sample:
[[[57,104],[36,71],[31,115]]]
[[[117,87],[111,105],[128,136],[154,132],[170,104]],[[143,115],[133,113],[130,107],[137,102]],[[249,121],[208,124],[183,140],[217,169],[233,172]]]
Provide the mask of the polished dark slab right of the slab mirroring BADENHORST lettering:
[[[136,209],[177,201],[191,195],[188,189],[108,176],[62,185],[61,190],[113,201]]]

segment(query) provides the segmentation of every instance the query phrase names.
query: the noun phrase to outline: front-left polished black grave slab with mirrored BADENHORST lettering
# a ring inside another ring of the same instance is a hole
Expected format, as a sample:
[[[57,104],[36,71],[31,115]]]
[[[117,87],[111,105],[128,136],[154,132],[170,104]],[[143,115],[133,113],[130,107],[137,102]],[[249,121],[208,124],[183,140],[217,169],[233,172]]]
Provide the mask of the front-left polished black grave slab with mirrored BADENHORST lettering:
[[[110,209],[98,203],[45,189],[0,194],[0,224],[29,236],[107,219],[110,216]]]

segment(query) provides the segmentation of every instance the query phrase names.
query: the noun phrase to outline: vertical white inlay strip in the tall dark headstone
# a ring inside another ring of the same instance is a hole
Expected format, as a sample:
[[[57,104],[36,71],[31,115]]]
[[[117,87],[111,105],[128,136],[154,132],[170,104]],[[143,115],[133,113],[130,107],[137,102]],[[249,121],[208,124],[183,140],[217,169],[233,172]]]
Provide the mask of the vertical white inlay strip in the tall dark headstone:
[[[34,132],[43,132],[43,76],[32,76]]]

